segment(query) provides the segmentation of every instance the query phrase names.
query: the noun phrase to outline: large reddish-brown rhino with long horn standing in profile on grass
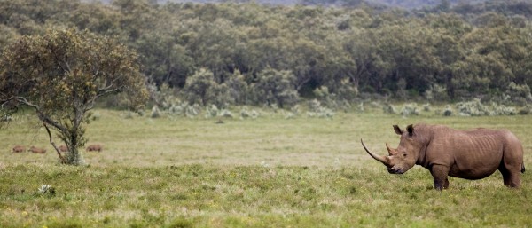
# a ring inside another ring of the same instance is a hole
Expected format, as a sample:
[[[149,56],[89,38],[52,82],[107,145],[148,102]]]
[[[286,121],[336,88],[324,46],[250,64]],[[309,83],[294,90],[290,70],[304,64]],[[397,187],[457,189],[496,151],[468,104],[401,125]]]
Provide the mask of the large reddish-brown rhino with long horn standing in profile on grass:
[[[406,130],[394,125],[394,130],[401,140],[396,149],[386,144],[388,156],[372,153],[360,139],[364,150],[391,174],[420,165],[430,170],[434,189],[442,190],[449,187],[448,176],[475,180],[498,169],[506,186],[520,186],[525,172],[523,146],[509,130],[454,130],[425,123],[408,125]]]

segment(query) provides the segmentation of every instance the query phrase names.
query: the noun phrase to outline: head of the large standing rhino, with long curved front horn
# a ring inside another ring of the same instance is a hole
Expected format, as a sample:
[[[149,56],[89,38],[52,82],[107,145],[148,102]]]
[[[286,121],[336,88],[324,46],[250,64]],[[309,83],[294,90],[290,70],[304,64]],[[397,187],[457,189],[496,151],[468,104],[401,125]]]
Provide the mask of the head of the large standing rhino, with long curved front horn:
[[[419,151],[422,144],[416,140],[416,133],[414,132],[414,127],[412,125],[409,125],[406,128],[406,131],[401,130],[397,125],[394,125],[394,130],[395,133],[401,136],[401,141],[396,149],[390,148],[390,146],[386,144],[388,156],[372,153],[366,148],[362,138],[360,139],[360,142],[362,143],[362,146],[364,146],[364,150],[369,153],[372,158],[387,166],[389,173],[403,174],[408,171],[408,169],[411,169],[416,164],[416,161],[418,161]]]

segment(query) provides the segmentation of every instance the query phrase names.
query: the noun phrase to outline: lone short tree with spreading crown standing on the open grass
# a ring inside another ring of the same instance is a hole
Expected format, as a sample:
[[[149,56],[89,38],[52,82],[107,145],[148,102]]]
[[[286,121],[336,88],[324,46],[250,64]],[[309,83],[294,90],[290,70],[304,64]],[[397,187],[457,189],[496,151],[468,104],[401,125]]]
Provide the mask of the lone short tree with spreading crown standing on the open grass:
[[[9,45],[0,59],[0,112],[4,116],[27,106],[35,110],[51,145],[66,164],[82,162],[84,125],[98,98],[129,93],[129,106],[145,103],[145,77],[137,54],[113,38],[88,31],[48,30]],[[51,130],[69,153],[59,153]]]

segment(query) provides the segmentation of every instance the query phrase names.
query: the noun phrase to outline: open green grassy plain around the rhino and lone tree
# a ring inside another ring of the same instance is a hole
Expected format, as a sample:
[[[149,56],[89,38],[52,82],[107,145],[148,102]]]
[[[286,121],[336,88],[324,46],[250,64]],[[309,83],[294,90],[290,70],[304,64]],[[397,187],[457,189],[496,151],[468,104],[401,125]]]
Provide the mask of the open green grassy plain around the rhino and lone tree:
[[[42,128],[21,114],[0,130],[0,227],[530,227],[532,117],[401,117],[380,110],[286,119],[153,119],[97,110],[84,166],[60,165]],[[497,171],[433,189],[416,166],[390,175],[360,138],[384,154],[393,124],[508,129],[520,138],[522,186]],[[56,139],[57,141],[57,139]],[[14,145],[45,154],[11,153]],[[51,185],[54,191],[40,193]],[[53,193],[51,193],[53,192]]]

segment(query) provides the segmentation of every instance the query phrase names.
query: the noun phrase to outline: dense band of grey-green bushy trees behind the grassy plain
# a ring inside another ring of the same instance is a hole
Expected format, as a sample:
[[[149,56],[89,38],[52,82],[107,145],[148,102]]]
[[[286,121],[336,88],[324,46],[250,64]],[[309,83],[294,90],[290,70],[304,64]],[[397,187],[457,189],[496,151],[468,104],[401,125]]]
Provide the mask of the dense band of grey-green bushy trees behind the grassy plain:
[[[532,101],[532,4],[525,1],[412,12],[367,4],[0,2],[0,49],[51,28],[117,36],[139,53],[153,92],[169,88],[200,105],[373,95]]]

